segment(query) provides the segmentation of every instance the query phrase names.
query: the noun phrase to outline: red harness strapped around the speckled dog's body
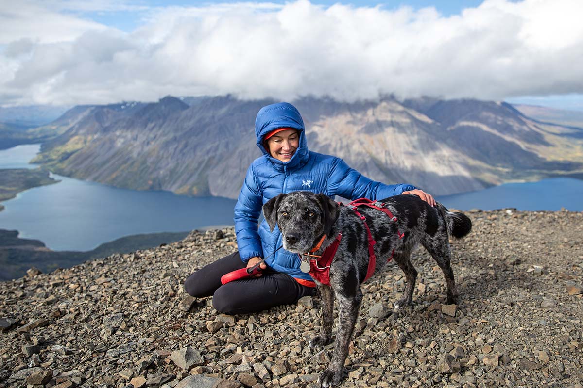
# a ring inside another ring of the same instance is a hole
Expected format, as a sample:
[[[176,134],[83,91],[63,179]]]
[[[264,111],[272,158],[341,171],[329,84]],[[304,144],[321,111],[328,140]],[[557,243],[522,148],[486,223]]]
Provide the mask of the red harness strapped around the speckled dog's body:
[[[340,205],[342,206],[343,204],[340,203]],[[373,276],[374,270],[377,266],[377,256],[374,254],[374,244],[376,244],[377,241],[373,239],[373,235],[370,233],[370,228],[366,223],[366,217],[361,215],[361,213],[358,211],[359,206],[368,206],[369,208],[380,210],[381,212],[388,215],[392,222],[396,222],[397,218],[391,213],[391,211],[389,211],[389,209],[386,208],[386,204],[383,202],[371,201],[367,198],[359,198],[358,200],[350,202],[346,206],[350,207],[350,209],[352,209],[352,211],[354,211],[354,213],[359,216],[361,220],[363,220],[364,227],[366,228],[366,232],[368,234],[368,269],[363,280],[364,283],[368,280],[369,277]],[[404,233],[399,231],[397,231],[397,234],[399,235],[399,239],[402,239],[403,236],[405,236]],[[325,238],[326,235],[322,237],[322,239],[319,241],[316,247],[310,251],[310,253],[303,254],[303,257],[300,255],[300,259],[303,263],[309,261],[310,271],[308,273],[310,273],[311,277],[313,277],[315,280],[318,280],[318,282],[322,284],[330,284],[330,265],[332,264],[332,260],[336,255],[338,245],[340,245],[340,240],[342,240],[342,233],[338,233],[338,236],[336,236],[334,242],[330,244],[330,246],[326,248],[324,252],[322,252],[321,256],[314,255],[314,252],[319,250]],[[394,254],[395,250],[392,250],[391,257],[389,257],[387,261],[391,261]]]

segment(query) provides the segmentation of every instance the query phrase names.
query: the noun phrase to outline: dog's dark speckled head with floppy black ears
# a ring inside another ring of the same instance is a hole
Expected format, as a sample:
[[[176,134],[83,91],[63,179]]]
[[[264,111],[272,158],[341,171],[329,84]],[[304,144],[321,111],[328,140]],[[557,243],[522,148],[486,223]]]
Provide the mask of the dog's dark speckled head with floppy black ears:
[[[324,194],[294,191],[271,198],[263,205],[263,213],[272,232],[278,225],[283,248],[305,253],[314,247],[315,240],[330,233],[340,215],[340,207]]]

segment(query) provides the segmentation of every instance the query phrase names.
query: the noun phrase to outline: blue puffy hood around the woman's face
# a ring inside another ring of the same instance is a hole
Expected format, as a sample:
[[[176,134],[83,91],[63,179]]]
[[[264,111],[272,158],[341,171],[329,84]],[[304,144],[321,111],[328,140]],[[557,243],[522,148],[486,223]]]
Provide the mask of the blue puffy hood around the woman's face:
[[[296,153],[287,162],[282,162],[273,158],[263,145],[263,139],[266,134],[278,128],[297,129],[300,134],[300,146]],[[296,166],[308,159],[308,144],[305,140],[304,120],[301,119],[300,112],[289,102],[278,102],[259,109],[257,118],[255,118],[255,137],[257,137],[257,147],[270,162],[277,166]]]

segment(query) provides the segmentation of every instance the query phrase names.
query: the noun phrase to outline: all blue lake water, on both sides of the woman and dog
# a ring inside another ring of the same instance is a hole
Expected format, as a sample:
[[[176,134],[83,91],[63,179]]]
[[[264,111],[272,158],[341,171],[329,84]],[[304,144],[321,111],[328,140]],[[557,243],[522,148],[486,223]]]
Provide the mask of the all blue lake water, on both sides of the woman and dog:
[[[0,168],[34,168],[28,161],[39,145],[0,151]],[[57,184],[31,188],[3,202],[0,229],[43,241],[52,250],[88,251],[122,236],[185,232],[233,225],[236,203],[228,198],[184,197],[167,191],[136,191],[58,175]],[[544,179],[508,183],[471,193],[438,197],[449,208],[583,211],[583,181]]]

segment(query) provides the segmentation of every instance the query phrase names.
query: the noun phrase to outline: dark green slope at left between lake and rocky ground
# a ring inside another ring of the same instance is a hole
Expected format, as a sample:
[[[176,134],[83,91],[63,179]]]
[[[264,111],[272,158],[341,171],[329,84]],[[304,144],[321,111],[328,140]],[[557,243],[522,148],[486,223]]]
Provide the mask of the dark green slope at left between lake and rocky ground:
[[[51,251],[38,240],[19,239],[16,230],[0,229],[0,280],[16,279],[36,267],[43,272],[67,268],[84,261],[129,253],[182,240],[189,232],[136,234],[99,245],[92,251]]]

